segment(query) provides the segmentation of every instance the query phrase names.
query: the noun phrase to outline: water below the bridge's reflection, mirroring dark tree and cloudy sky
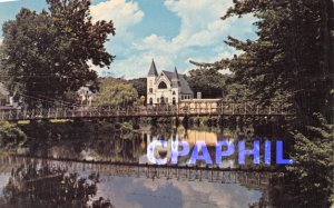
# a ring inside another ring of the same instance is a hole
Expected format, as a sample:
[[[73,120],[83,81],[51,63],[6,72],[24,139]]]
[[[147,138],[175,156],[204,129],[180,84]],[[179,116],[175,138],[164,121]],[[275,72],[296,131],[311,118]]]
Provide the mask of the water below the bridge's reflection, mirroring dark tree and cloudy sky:
[[[247,185],[116,176],[111,172],[117,168],[110,166],[0,161],[0,207],[248,207],[263,196]]]

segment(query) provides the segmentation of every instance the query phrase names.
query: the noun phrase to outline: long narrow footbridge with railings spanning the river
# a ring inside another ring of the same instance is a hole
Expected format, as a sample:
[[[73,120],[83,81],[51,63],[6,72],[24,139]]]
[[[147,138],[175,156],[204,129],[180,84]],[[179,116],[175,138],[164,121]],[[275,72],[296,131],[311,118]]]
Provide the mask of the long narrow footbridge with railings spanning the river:
[[[73,118],[136,118],[136,117],[203,117],[203,116],[257,116],[285,117],[292,110],[283,107],[261,107],[249,103],[222,103],[217,107],[140,106],[140,107],[76,107],[50,109],[0,110],[0,120],[38,120]]]

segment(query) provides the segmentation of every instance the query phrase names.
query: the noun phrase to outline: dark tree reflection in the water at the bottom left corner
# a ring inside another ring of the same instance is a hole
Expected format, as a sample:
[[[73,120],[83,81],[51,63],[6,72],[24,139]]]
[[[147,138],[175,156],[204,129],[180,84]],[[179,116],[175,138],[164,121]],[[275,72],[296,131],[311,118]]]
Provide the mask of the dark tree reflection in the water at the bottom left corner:
[[[40,164],[22,165],[11,171],[0,207],[16,208],[112,208],[109,199],[92,199],[99,174],[87,178],[77,172]]]

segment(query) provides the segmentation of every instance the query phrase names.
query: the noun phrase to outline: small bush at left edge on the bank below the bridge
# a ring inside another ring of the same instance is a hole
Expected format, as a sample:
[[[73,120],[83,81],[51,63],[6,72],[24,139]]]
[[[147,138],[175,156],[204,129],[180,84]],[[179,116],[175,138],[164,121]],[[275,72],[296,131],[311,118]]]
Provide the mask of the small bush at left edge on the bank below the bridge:
[[[21,145],[26,140],[26,133],[17,125],[0,122],[0,148]]]

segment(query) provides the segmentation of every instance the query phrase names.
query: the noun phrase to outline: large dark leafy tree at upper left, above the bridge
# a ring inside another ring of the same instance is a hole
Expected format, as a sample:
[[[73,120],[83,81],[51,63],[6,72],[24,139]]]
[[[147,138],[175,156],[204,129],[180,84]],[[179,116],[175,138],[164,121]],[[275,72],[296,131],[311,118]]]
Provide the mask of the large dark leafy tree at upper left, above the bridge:
[[[48,0],[49,10],[21,9],[3,23],[1,75],[16,99],[45,107],[76,91],[97,75],[89,69],[109,66],[114,56],[104,47],[115,34],[111,21],[92,22],[90,0]]]

